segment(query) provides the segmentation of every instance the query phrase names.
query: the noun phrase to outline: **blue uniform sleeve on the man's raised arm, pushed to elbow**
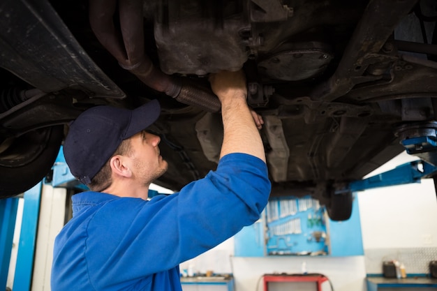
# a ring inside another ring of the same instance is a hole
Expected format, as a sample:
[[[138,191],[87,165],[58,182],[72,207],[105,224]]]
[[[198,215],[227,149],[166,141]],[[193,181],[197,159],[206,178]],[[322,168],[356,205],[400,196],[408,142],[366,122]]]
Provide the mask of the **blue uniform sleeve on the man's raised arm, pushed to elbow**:
[[[267,166],[229,154],[217,170],[182,191],[149,202],[121,198],[94,214],[87,264],[96,288],[137,281],[194,258],[258,220],[270,193]],[[114,223],[118,221],[118,223]]]

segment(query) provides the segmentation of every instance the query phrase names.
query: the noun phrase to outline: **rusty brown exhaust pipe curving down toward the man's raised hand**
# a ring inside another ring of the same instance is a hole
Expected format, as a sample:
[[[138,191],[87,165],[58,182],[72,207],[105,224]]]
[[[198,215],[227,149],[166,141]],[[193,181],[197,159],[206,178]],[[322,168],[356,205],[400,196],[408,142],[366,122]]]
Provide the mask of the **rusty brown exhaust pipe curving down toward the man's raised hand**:
[[[121,31],[115,29],[112,17],[119,8]],[[194,86],[188,80],[163,73],[145,54],[142,0],[91,0],[89,22],[103,47],[151,89],[163,92],[181,103],[218,112],[220,100],[210,89]]]

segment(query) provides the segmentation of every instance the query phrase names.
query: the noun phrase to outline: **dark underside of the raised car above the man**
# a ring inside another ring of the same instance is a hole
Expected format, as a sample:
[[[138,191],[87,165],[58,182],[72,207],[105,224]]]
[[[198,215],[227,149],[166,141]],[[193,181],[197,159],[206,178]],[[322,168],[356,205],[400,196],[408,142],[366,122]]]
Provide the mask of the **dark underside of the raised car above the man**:
[[[217,165],[208,75],[246,73],[272,197],[350,216],[350,181],[408,149],[437,164],[437,1],[6,0],[0,3],[0,195],[50,170],[95,105],[161,102],[151,130],[177,191]],[[248,141],[250,142],[250,141]]]

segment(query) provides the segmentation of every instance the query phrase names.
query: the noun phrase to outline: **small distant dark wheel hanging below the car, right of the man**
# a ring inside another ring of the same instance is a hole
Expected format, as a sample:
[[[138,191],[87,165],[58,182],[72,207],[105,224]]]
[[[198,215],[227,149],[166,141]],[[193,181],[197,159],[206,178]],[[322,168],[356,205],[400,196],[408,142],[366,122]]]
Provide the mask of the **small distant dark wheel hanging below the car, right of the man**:
[[[326,205],[329,218],[332,221],[347,221],[352,214],[352,202],[352,192],[334,194],[332,191],[329,203]]]

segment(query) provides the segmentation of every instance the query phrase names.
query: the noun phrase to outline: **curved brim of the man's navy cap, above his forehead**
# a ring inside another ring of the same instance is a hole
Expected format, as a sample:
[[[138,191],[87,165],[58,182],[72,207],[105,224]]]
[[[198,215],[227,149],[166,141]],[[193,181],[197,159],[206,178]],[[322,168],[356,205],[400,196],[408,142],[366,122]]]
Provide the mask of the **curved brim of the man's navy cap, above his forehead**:
[[[161,105],[159,105],[159,102],[156,99],[132,110],[131,122],[123,139],[126,140],[126,138],[131,137],[154,124],[160,113]]]

